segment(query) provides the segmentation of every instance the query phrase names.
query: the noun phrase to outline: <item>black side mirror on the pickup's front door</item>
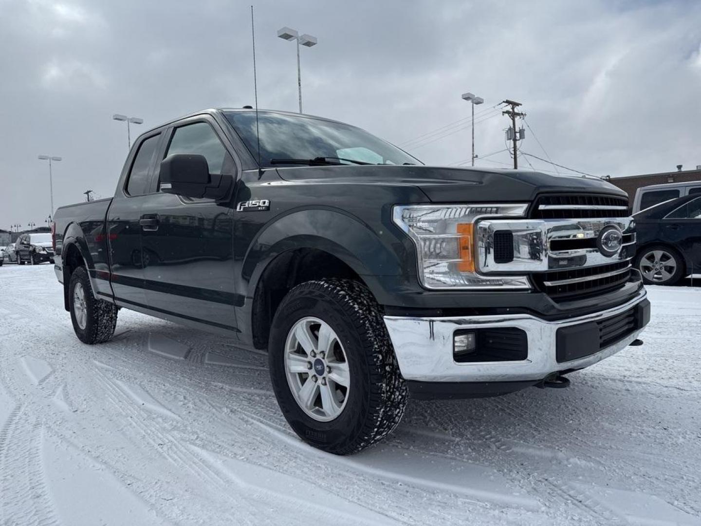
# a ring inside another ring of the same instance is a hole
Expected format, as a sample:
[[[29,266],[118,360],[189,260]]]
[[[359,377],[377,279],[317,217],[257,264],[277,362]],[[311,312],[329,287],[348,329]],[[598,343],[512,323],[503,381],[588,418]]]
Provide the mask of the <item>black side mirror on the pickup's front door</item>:
[[[233,177],[211,173],[203,155],[173,154],[161,161],[161,191],[193,198],[223,199]]]

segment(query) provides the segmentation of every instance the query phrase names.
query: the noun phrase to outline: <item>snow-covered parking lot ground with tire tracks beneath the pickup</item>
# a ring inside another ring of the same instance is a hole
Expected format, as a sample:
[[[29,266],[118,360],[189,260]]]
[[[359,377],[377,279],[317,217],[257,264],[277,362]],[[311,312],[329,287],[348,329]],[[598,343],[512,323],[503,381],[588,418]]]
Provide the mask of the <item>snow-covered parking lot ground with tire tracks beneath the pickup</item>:
[[[569,389],[411,400],[354,457],[301,443],[266,357],[121,311],[73,334],[53,266],[0,268],[1,525],[701,525],[701,288]]]

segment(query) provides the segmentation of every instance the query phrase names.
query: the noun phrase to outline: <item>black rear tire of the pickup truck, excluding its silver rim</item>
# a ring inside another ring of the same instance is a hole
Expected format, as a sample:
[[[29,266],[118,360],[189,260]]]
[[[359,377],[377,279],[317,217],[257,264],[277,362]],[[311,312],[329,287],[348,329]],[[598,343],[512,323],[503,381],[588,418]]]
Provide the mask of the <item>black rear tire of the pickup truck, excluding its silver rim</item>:
[[[74,291],[77,285],[81,285],[85,297],[86,322],[84,328],[81,328],[76,319]],[[101,344],[107,342],[114,335],[114,329],[117,325],[117,306],[103,299],[95,299],[85,267],[78,267],[71,274],[71,280],[68,284],[68,304],[73,330],[81,342]]]

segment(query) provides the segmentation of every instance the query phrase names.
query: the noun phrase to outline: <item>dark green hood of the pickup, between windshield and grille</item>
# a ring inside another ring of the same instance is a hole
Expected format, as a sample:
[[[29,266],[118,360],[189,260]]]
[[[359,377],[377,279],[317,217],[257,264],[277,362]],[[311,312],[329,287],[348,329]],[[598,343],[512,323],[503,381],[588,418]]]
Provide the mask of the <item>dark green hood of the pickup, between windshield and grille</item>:
[[[596,177],[531,170],[442,166],[315,166],[278,168],[287,181],[318,184],[400,184],[418,187],[433,203],[533,201],[536,194],[615,194],[624,191]]]

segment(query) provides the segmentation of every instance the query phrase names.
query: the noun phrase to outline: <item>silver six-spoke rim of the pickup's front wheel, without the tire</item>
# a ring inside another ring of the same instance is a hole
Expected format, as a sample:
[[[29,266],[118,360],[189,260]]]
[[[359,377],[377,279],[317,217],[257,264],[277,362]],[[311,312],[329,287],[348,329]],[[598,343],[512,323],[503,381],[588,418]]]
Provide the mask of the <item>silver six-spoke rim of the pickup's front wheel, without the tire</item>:
[[[313,325],[320,327],[318,338],[309,330]],[[345,361],[329,353],[333,349],[340,350]],[[294,401],[308,417],[331,422],[341,415],[351,391],[348,354],[328,323],[314,316],[294,323],[285,339],[283,366]]]

